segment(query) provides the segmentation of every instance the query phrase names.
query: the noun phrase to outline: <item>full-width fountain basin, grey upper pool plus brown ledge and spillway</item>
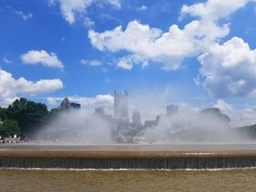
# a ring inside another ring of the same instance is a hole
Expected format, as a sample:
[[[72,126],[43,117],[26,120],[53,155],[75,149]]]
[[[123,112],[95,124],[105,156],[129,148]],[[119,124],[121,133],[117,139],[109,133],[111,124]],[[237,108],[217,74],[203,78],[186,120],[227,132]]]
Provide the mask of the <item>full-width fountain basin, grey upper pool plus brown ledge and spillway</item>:
[[[0,167],[42,169],[231,169],[256,167],[256,150],[253,144],[227,145],[225,147],[222,147],[223,145],[196,144],[171,146],[5,145],[0,147]],[[197,150],[188,150],[188,146]],[[238,146],[243,147],[239,148]],[[219,147],[219,149],[211,150],[212,147],[216,149]],[[169,150],[167,150],[168,148]]]

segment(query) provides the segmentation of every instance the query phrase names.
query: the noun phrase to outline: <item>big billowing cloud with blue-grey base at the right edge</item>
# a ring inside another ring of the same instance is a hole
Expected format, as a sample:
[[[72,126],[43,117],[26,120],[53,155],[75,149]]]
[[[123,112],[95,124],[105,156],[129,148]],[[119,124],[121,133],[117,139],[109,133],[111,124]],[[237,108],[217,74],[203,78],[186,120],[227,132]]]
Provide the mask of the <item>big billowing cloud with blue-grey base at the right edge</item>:
[[[256,91],[256,50],[233,37],[199,56],[200,74],[213,96],[248,96]]]

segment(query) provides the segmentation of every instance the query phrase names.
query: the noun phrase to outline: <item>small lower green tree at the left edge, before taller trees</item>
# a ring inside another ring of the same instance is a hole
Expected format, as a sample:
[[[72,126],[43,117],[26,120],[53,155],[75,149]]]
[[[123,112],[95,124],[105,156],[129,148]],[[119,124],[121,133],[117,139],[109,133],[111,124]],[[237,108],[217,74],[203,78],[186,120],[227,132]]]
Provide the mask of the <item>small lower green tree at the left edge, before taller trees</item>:
[[[16,120],[5,120],[4,125],[0,126],[1,134],[12,136],[14,134],[20,134],[20,128]]]

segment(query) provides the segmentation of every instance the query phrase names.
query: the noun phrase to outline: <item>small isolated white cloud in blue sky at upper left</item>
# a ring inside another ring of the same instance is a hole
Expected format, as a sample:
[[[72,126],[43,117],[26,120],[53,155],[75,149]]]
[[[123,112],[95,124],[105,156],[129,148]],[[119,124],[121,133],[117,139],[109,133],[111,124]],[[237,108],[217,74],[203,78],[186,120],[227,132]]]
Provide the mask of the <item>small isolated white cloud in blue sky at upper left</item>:
[[[29,50],[28,53],[21,55],[21,59],[23,64],[42,64],[43,66],[64,68],[56,53],[49,54],[45,50]]]

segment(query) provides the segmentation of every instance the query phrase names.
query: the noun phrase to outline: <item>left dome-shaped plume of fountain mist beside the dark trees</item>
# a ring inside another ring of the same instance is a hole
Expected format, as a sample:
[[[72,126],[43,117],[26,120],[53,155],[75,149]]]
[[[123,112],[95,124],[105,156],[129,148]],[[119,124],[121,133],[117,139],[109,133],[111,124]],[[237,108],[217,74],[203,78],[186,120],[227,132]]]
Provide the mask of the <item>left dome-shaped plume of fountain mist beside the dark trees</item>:
[[[64,110],[36,134],[37,140],[69,143],[113,143],[108,120],[86,110]]]

